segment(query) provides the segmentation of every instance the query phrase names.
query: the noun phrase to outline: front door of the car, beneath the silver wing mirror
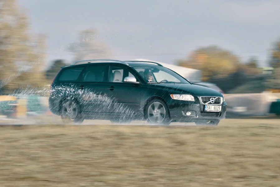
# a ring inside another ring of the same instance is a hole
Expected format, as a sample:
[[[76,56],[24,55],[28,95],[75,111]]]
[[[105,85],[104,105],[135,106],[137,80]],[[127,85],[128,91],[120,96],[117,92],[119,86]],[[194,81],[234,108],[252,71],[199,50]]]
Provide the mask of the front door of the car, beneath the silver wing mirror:
[[[139,83],[126,82],[124,78],[132,76],[136,78],[135,72],[126,66],[110,65],[106,91],[108,97],[114,104],[111,113],[139,112],[141,101],[141,85]]]

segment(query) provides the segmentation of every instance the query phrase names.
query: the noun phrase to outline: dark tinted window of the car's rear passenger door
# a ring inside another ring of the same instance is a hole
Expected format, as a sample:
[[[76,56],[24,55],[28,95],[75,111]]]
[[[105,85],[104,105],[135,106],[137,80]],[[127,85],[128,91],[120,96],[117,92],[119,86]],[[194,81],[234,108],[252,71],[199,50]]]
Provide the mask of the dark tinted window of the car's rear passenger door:
[[[103,82],[104,75],[106,72],[106,65],[93,65],[88,66],[86,71],[83,74],[84,82]]]

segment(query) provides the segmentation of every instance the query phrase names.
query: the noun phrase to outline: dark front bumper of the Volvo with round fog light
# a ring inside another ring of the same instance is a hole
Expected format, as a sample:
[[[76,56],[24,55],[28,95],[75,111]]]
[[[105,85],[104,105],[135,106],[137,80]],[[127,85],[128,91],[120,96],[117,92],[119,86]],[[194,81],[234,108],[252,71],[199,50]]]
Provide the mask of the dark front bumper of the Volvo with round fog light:
[[[173,100],[168,103],[170,117],[174,122],[194,122],[199,120],[225,119],[227,104],[221,104],[221,112],[204,111],[204,104],[200,102]],[[190,116],[186,113],[191,112]]]

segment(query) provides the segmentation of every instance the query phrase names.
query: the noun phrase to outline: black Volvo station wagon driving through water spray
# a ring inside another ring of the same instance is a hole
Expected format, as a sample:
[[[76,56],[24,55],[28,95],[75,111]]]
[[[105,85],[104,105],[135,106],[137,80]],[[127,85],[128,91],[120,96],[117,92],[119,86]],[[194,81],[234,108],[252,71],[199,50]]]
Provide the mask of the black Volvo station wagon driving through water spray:
[[[51,84],[49,107],[64,123],[218,125],[227,104],[221,92],[192,84],[157,62],[96,59],[61,68]]]

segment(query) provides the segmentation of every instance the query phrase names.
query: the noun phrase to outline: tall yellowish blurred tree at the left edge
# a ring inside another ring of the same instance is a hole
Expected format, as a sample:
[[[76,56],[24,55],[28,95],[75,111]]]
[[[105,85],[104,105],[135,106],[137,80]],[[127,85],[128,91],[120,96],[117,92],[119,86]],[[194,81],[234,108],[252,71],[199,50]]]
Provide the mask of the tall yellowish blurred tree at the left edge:
[[[0,3],[0,88],[16,89],[44,81],[45,38],[31,38],[28,19],[16,0]]]

